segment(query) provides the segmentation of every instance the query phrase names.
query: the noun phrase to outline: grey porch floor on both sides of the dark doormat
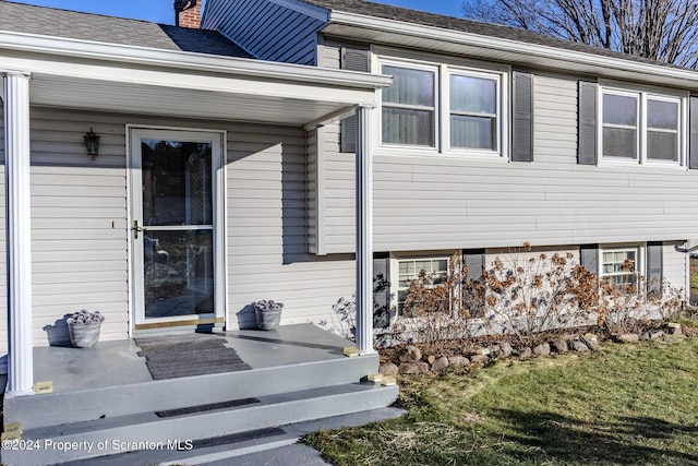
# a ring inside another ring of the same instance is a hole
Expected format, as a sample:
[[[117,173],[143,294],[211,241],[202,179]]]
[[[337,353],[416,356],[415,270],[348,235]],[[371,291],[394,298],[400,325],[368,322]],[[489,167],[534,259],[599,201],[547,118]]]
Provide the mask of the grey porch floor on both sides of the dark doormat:
[[[346,358],[353,345],[313,324],[284,325],[276,331],[216,332],[252,369]],[[137,337],[136,337],[137,338]],[[34,382],[53,383],[53,393],[153,381],[133,339],[99,342],[94,348],[34,348]]]

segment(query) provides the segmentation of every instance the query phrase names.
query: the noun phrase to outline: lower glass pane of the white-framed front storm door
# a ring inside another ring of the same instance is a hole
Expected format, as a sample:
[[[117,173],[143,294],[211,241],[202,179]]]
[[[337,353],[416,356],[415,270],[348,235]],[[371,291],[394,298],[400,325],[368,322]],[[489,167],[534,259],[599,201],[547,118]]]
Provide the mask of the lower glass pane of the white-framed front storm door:
[[[146,318],[214,312],[212,230],[147,231],[143,247]]]

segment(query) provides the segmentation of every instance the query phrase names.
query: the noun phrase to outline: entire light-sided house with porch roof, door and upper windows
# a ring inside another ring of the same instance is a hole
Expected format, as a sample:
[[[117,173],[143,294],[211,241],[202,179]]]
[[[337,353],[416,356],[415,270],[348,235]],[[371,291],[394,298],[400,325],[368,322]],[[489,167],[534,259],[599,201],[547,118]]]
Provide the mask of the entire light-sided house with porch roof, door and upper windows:
[[[0,15],[9,396],[80,309],[108,340],[250,327],[260,299],[317,323],[357,291],[366,353],[372,299],[455,250],[687,287],[695,71],[361,0]]]

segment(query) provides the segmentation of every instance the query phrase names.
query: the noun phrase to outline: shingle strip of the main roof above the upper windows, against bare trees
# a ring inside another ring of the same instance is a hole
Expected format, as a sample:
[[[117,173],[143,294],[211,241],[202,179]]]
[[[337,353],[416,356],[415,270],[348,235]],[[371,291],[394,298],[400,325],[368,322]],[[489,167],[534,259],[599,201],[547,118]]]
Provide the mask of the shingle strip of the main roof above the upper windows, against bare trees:
[[[345,13],[354,13],[366,16],[383,17],[387,20],[401,21],[422,26],[433,26],[443,29],[477,34],[488,37],[496,37],[501,39],[516,40],[527,44],[534,44],[547,47],[561,48],[564,50],[575,50],[585,53],[599,55],[603,57],[612,57],[621,60],[630,60],[642,63],[659,64],[672,68],[673,64],[649,60],[627,53],[594,47],[586,44],[579,44],[571,40],[564,40],[530,31],[519,29],[516,27],[503,26],[498,24],[483,23],[479,21],[462,20],[455,16],[445,16],[442,14],[428,13],[424,11],[411,10],[401,7],[393,7],[384,3],[373,3],[365,0],[301,0],[305,3]],[[452,0],[456,1],[456,0]]]

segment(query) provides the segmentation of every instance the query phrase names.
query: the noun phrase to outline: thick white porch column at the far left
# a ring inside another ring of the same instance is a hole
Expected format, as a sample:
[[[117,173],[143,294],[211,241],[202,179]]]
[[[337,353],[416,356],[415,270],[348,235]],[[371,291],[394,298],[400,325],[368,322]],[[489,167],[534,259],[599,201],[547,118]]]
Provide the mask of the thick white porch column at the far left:
[[[34,394],[29,207],[29,75],[2,73],[8,272],[8,387]]]

